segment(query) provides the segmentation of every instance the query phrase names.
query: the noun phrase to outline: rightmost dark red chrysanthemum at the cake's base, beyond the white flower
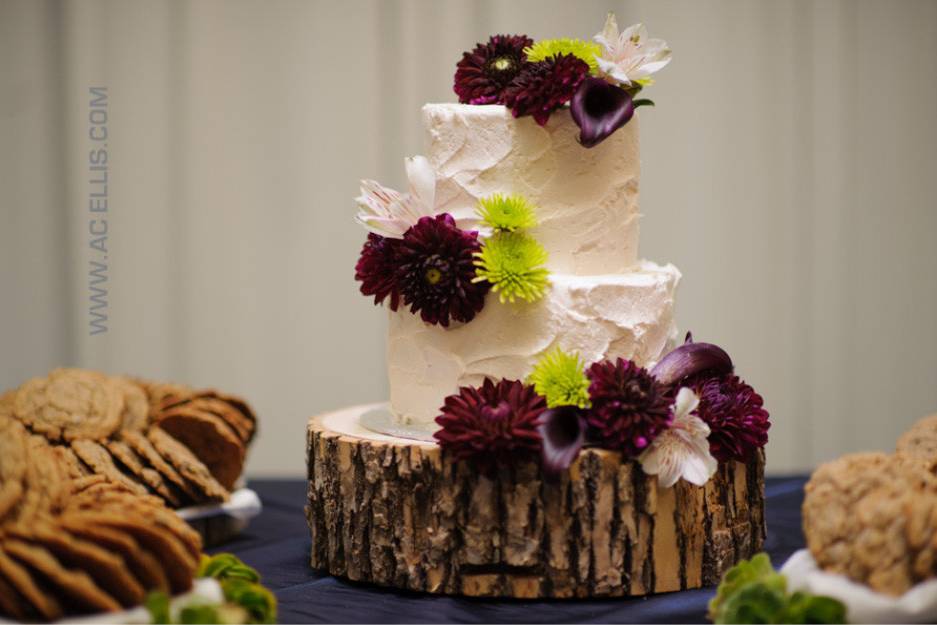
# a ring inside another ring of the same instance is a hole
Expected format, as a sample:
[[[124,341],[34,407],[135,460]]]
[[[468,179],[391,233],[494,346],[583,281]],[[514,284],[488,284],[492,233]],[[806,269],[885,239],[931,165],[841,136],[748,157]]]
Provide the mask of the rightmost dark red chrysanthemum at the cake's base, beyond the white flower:
[[[709,451],[720,462],[747,462],[768,442],[768,411],[755,389],[736,375],[697,379],[696,414],[709,424]]]

